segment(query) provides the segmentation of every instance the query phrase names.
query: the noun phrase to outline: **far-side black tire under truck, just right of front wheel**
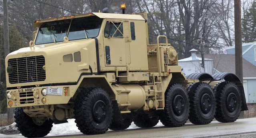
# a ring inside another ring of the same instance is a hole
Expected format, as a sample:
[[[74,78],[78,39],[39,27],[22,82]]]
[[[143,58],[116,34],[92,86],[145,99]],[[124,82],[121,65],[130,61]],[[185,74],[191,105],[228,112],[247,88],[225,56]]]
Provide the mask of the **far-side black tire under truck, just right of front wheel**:
[[[133,118],[131,117],[131,114],[124,114],[122,115],[121,120],[115,120],[114,118],[113,122],[109,126],[109,129],[125,130],[126,128],[129,128],[129,126],[131,126],[131,122],[133,122]]]

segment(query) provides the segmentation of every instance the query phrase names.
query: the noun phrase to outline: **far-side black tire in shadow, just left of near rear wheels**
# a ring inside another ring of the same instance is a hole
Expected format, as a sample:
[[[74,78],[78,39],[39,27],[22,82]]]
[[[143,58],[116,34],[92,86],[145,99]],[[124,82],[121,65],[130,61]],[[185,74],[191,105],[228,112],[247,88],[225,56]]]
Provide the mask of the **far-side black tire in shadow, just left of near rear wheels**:
[[[133,117],[133,122],[136,126],[140,128],[151,128],[159,122],[158,116],[150,115],[144,111],[139,111],[135,113]]]

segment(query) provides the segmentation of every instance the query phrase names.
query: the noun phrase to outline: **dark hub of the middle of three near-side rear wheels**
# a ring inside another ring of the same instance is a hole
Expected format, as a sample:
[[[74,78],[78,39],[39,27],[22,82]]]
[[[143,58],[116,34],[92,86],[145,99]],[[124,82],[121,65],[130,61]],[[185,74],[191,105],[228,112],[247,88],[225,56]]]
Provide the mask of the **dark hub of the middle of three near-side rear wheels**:
[[[201,106],[202,112],[204,112],[205,114],[210,112],[210,110],[212,108],[212,103],[211,102],[212,102],[212,98],[209,94],[204,94],[201,97],[200,106]]]

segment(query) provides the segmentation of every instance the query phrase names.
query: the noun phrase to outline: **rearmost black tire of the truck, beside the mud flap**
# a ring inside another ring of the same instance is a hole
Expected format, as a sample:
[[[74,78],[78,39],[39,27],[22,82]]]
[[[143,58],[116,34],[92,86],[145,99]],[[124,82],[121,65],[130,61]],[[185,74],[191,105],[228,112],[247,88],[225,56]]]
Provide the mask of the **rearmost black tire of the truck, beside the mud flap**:
[[[214,86],[216,94],[215,118],[219,122],[235,122],[241,112],[242,100],[234,82],[221,82]]]

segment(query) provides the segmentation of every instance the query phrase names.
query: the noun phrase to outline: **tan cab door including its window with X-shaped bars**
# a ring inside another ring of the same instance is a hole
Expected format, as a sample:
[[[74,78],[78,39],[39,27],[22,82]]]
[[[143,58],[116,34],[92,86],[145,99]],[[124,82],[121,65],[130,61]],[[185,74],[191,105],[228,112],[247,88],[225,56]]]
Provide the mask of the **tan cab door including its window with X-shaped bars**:
[[[103,31],[105,66],[126,66],[123,21],[107,21]]]

